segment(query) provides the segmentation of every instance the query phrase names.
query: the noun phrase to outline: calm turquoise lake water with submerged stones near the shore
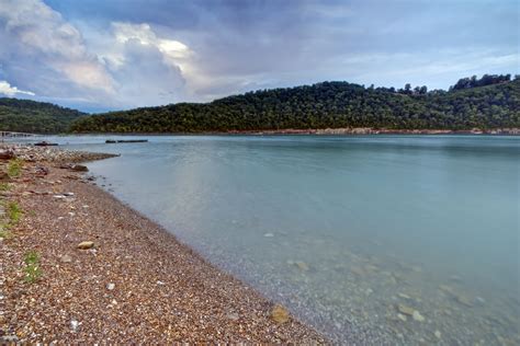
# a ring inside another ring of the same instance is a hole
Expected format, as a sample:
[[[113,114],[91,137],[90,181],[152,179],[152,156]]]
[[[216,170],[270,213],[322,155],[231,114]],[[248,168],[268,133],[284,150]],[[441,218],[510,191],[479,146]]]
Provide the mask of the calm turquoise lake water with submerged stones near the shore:
[[[519,137],[106,138],[50,140],[336,341],[520,343]]]

